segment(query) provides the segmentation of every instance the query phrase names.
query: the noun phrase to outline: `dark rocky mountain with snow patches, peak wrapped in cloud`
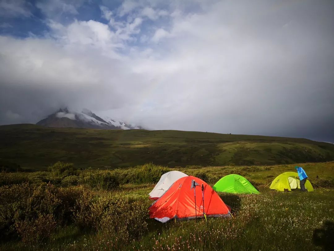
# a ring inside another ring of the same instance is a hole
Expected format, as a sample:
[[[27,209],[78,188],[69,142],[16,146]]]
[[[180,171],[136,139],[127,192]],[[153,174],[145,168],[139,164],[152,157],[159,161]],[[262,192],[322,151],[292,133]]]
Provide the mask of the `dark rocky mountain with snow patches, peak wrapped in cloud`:
[[[94,128],[94,129],[141,129],[140,126],[132,126],[124,121],[111,117],[99,117],[91,110],[83,109],[81,112],[59,109],[36,124],[47,127],[74,127],[74,128]]]

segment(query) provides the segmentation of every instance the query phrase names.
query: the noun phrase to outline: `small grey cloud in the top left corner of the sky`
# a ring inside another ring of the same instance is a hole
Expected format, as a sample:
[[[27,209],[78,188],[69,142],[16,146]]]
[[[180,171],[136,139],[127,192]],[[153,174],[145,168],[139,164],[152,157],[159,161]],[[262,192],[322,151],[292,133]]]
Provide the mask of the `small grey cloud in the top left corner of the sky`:
[[[31,16],[30,4],[24,0],[1,0],[0,15],[2,17],[29,17]]]

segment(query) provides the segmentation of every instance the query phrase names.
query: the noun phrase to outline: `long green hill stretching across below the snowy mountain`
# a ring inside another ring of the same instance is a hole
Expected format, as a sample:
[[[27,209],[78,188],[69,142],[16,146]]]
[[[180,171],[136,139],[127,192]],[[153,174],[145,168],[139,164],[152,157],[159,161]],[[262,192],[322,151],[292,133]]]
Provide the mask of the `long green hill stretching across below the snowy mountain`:
[[[307,139],[185,131],[0,126],[0,165],[43,169],[56,161],[115,168],[148,162],[186,165],[274,165],[334,160],[334,145]]]

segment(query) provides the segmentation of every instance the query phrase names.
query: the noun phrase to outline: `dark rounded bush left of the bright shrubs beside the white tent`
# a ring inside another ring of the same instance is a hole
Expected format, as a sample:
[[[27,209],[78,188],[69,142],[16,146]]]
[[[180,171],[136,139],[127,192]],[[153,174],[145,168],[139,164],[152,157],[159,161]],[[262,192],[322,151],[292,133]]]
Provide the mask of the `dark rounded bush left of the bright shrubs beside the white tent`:
[[[91,188],[99,189],[116,189],[119,187],[120,183],[110,171],[98,171],[91,173],[89,176],[85,177],[85,183]]]

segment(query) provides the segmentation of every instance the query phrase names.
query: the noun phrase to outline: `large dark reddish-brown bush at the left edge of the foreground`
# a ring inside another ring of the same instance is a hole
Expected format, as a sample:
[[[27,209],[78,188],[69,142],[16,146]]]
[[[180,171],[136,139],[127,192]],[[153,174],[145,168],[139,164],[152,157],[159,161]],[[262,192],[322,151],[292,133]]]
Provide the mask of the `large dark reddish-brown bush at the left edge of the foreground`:
[[[19,234],[26,243],[40,243],[56,224],[73,220],[82,188],[52,184],[15,184],[0,187],[0,236]]]

